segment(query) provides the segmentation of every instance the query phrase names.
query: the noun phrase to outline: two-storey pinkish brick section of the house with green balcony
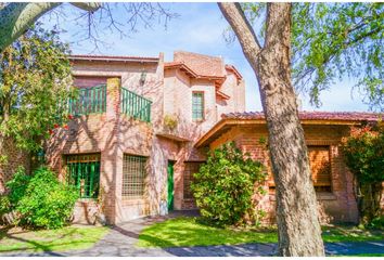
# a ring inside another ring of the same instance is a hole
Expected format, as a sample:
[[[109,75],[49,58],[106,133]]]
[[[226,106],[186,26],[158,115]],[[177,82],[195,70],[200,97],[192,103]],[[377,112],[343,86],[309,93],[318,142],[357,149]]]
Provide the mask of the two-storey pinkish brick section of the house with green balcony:
[[[93,222],[102,211],[116,223],[194,207],[183,191],[205,155],[193,144],[222,113],[245,110],[239,72],[220,57],[189,52],[175,52],[171,63],[162,53],[71,61],[79,88],[69,102],[75,118],[55,130],[46,154],[80,188],[75,220]]]

